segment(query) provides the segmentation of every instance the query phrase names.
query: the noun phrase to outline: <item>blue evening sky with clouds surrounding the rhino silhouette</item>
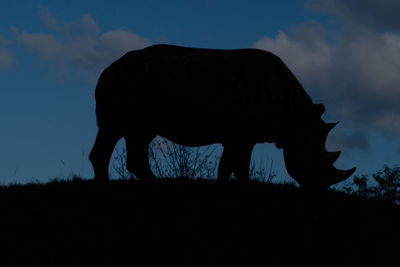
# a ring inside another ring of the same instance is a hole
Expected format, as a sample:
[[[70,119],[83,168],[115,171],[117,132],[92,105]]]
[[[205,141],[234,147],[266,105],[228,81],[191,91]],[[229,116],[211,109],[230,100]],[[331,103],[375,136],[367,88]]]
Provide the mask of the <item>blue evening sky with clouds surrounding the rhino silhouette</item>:
[[[155,43],[274,52],[341,121],[328,142],[338,167],[396,164],[399,12],[395,0],[2,1],[0,183],[91,177],[97,78]],[[254,155],[287,177],[274,146]]]

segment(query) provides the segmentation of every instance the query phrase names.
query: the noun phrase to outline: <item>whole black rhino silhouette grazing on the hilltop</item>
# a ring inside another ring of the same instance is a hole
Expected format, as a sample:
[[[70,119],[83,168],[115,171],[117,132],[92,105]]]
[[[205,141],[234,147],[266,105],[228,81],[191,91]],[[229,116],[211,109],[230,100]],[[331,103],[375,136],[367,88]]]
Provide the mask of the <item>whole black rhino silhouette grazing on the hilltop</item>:
[[[293,73],[258,49],[218,50],[154,45],[128,52],[100,75],[99,127],[89,155],[96,180],[108,180],[115,144],[125,138],[127,169],[153,178],[148,146],[157,135],[185,146],[221,143],[218,180],[249,179],[256,143],[283,149],[288,173],[303,186],[327,187],[350,177],[325,142],[335,123],[321,119]]]

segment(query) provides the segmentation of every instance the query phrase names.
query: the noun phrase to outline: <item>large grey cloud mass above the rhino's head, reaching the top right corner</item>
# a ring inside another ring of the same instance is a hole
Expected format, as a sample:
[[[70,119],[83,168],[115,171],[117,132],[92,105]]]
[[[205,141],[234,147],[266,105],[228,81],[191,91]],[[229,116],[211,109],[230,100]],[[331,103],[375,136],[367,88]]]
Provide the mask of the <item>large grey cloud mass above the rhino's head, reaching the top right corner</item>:
[[[359,0],[308,4],[336,16],[339,28],[330,32],[315,23],[304,24],[263,37],[254,47],[280,56],[314,100],[326,103],[327,113],[344,122],[347,133],[333,135],[333,143],[366,149],[370,130],[398,137],[400,28],[394,25],[400,26],[400,2],[375,1],[373,8]],[[396,18],[385,18],[394,13]]]

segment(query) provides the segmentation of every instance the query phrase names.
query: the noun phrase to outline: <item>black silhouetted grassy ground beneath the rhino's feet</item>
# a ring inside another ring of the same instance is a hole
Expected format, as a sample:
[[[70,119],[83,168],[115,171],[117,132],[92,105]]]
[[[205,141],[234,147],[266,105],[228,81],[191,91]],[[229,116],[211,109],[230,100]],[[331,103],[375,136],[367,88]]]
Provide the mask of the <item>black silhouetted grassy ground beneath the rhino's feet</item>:
[[[289,185],[75,180],[0,188],[0,266],[400,262],[400,206]]]

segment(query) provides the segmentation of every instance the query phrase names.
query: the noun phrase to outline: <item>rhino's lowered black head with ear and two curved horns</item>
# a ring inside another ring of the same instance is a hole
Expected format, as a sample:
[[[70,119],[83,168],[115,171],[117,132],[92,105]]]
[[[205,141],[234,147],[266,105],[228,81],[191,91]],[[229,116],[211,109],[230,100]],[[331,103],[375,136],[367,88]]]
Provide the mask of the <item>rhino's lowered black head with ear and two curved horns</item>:
[[[296,131],[283,147],[289,175],[304,187],[328,188],[346,180],[356,170],[339,170],[333,165],[341,152],[328,152],[325,143],[337,123],[325,123],[320,117],[324,110],[322,104],[315,105],[312,127]]]

